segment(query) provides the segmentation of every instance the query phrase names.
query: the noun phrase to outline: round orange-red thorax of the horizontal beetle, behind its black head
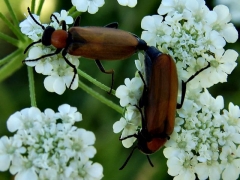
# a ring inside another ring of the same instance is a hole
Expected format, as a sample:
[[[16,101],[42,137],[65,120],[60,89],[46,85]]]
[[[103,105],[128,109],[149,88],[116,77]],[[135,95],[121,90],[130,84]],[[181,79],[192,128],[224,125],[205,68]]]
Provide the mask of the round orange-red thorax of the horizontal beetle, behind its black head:
[[[68,32],[58,29],[52,33],[51,44],[57,49],[63,49],[67,45]]]

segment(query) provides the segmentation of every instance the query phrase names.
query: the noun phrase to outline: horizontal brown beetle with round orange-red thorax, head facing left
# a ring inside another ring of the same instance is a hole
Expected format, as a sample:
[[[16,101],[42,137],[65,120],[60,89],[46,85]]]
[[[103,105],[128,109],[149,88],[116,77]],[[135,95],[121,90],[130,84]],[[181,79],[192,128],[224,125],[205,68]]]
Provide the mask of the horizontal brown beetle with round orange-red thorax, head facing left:
[[[38,61],[45,57],[50,57],[59,53],[66,63],[73,68],[74,76],[70,83],[71,87],[75,76],[77,74],[76,67],[66,58],[66,54],[74,56],[82,56],[89,59],[94,59],[98,68],[106,74],[112,74],[113,87],[113,70],[105,70],[100,60],[122,60],[131,56],[138,50],[145,50],[147,44],[144,40],[138,38],[136,35],[129,32],[117,29],[118,23],[110,23],[105,27],[79,27],[80,16],[76,18],[73,27],[67,31],[66,22],[57,20],[54,14],[51,15],[51,19],[55,18],[56,21],[62,26],[62,29],[55,30],[52,26],[44,27],[33,17],[30,8],[28,13],[36,24],[38,24],[43,30],[42,39],[31,43],[24,51],[26,53],[28,49],[37,43],[42,43],[44,46],[54,46],[56,51],[47,55],[43,55],[36,59],[28,59],[27,61]]]

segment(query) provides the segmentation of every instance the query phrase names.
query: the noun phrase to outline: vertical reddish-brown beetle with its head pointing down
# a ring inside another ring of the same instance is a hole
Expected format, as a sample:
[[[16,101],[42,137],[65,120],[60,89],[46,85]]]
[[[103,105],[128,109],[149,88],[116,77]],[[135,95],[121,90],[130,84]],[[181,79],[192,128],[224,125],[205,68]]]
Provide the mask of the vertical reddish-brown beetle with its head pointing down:
[[[136,148],[147,155],[150,165],[153,166],[149,155],[158,151],[170,138],[174,130],[176,108],[180,109],[184,102],[186,84],[210,66],[208,63],[186,82],[182,81],[182,97],[178,104],[177,69],[171,56],[161,53],[155,47],[148,47],[145,50],[144,61],[146,82],[139,72],[144,90],[139,105],[136,105],[142,116],[142,129],[136,134],[120,138],[120,140],[137,138],[137,145],[132,149],[120,170],[126,166]],[[141,108],[144,108],[144,113]]]

